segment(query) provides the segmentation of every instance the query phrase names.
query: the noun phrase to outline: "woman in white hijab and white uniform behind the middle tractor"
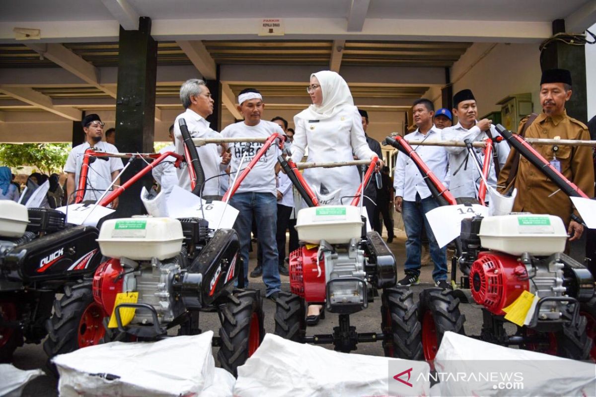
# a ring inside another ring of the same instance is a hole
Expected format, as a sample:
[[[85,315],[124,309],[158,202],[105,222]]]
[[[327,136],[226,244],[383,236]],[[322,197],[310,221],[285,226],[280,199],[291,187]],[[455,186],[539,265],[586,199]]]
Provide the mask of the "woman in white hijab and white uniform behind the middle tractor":
[[[294,116],[294,142],[291,157],[302,160],[308,146],[308,161],[350,161],[353,155],[369,160],[376,154],[368,148],[362,129],[362,117],[354,106],[346,80],[334,71],[311,74],[307,91],[312,105]],[[326,204],[349,204],[360,184],[356,166],[339,168],[308,168],[306,182],[319,195],[339,189],[336,199]],[[343,200],[342,200],[343,198]],[[316,325],[321,305],[310,305],[306,323]]]

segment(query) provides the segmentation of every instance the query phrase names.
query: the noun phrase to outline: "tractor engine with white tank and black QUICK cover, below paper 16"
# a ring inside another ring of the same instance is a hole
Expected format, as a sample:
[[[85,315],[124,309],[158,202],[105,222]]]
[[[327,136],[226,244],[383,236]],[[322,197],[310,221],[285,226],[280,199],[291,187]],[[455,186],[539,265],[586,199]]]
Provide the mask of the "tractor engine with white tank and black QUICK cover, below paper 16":
[[[239,243],[232,229],[220,229],[210,238],[208,232],[207,222],[198,218],[105,221],[98,242],[111,259],[95,272],[95,301],[108,315],[117,303],[134,304],[134,317],[123,326],[159,326],[212,304],[233,285]],[[195,252],[192,260],[188,252]],[[121,295],[117,302],[119,293],[129,292],[136,297]]]

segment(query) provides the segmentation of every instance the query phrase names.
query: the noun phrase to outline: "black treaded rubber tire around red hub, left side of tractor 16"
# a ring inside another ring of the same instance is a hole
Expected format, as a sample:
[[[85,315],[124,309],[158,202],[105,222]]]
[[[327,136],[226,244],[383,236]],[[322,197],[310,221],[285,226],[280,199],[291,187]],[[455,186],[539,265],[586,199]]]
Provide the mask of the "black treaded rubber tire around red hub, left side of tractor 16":
[[[48,339],[44,342],[44,351],[48,357],[69,353],[84,347],[79,346],[80,321],[91,305],[97,305],[93,299],[91,282],[64,287],[64,296],[60,301],[54,301],[54,315],[46,321]],[[105,313],[103,313],[103,317],[105,317]],[[103,331],[103,335],[96,343],[91,344],[104,342],[103,317],[97,318],[99,327],[97,332]]]

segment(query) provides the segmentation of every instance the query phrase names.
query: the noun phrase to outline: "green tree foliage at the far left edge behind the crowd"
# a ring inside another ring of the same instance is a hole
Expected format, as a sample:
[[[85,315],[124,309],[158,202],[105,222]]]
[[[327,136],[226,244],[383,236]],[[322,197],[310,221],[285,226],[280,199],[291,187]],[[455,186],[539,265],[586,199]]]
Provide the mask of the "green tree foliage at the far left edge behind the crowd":
[[[49,175],[62,171],[70,147],[69,143],[2,143],[0,164],[13,168],[28,165]]]

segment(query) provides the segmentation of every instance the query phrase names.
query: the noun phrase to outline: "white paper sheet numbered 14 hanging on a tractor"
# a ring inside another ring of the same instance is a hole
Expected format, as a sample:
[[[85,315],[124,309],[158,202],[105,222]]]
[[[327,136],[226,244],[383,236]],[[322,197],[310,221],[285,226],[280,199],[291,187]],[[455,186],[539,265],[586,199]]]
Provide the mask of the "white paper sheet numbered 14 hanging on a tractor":
[[[472,204],[471,206],[459,204],[434,208],[434,210],[426,213],[426,218],[439,247],[443,248],[460,235],[462,219],[471,218],[475,215],[486,216],[486,214],[488,214],[488,207],[480,204]]]

